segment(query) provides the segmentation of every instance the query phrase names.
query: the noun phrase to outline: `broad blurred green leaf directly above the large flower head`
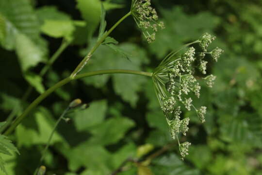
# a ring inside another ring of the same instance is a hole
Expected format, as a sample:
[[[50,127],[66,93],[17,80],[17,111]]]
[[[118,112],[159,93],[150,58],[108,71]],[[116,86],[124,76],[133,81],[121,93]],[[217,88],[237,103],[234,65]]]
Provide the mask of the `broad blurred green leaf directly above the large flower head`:
[[[151,53],[163,59],[169,51],[180,48],[185,42],[196,40],[204,32],[212,31],[218,24],[218,18],[211,13],[200,12],[187,15],[179,6],[172,10],[162,10],[165,29],[157,32],[155,42],[149,45]]]

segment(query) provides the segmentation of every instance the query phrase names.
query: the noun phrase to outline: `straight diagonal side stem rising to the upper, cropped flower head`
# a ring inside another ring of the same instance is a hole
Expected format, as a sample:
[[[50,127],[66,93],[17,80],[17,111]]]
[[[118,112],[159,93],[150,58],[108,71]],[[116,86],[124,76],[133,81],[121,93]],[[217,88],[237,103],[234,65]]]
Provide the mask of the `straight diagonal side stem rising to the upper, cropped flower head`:
[[[105,40],[105,38],[111,34],[111,32],[127,17],[129,17],[131,15],[131,12],[127,13],[124,17],[122,17],[121,19],[119,19],[115,25],[113,27],[111,27],[111,29],[106,32],[104,35],[102,35],[102,37],[97,41],[96,45],[91,49],[91,51],[82,59],[82,61],[80,62],[80,64],[76,67],[76,69],[71,73],[71,77],[74,78],[82,69],[83,67],[86,65],[86,63],[88,62],[88,60],[91,58],[91,56],[93,55],[93,53],[95,53],[95,51],[98,49],[98,47],[101,45],[101,43]]]

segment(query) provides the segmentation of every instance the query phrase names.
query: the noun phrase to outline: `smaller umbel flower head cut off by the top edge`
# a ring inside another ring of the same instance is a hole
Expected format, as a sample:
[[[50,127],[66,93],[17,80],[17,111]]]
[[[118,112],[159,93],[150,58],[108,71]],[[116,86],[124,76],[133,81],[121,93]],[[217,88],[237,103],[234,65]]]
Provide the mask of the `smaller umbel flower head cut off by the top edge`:
[[[132,0],[131,15],[148,43],[155,41],[159,28],[164,29],[164,23],[157,22],[157,12],[151,7],[150,0]]]

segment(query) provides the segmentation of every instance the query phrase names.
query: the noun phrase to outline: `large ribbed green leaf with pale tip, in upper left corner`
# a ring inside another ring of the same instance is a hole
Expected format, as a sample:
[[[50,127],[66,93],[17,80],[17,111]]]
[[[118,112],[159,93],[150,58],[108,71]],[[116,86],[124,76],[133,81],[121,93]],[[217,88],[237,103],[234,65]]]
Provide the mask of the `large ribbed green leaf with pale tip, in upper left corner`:
[[[2,47],[16,50],[23,71],[46,60],[46,45],[40,38],[38,19],[29,1],[1,0],[0,16],[5,20],[6,31]]]

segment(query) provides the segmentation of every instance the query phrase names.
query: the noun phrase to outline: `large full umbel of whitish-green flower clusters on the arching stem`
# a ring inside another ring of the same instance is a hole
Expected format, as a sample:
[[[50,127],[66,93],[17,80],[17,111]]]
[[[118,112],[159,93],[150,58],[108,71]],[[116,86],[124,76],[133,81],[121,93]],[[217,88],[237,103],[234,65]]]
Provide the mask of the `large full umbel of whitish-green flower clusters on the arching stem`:
[[[223,53],[219,48],[215,48],[212,52],[207,52],[207,47],[214,38],[214,36],[206,33],[198,40],[186,44],[179,51],[169,53],[153,72],[152,78],[155,92],[173,139],[178,139],[180,134],[186,135],[186,132],[189,130],[190,119],[180,119],[182,107],[186,110],[195,110],[200,122],[205,122],[207,107],[201,106],[197,109],[190,95],[193,94],[200,98],[201,86],[199,81],[201,80],[205,81],[207,87],[212,88],[214,85],[215,76],[212,74],[202,79],[196,79],[194,76],[197,70],[202,74],[207,74],[208,60],[205,59],[206,54],[211,54],[213,60],[217,61],[218,57]],[[199,53],[196,53],[194,47],[190,47],[196,43],[202,49]],[[185,51],[179,54],[182,50]],[[189,142],[179,143],[181,158],[188,154],[190,144]]]

